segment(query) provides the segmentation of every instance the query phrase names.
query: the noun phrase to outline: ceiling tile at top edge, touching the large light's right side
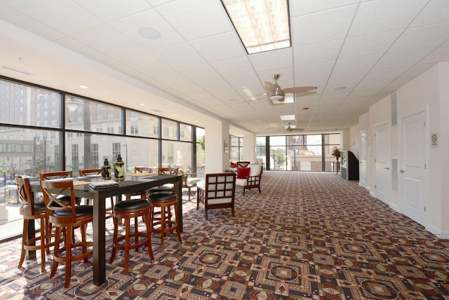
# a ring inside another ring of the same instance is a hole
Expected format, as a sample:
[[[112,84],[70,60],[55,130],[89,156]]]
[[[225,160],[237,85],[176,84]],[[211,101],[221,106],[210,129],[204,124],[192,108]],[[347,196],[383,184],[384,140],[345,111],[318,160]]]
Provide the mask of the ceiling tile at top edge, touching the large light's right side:
[[[358,3],[358,0],[302,0],[289,1],[290,13],[294,16],[307,15],[308,13],[317,13],[319,11],[327,11],[340,6],[347,6]]]

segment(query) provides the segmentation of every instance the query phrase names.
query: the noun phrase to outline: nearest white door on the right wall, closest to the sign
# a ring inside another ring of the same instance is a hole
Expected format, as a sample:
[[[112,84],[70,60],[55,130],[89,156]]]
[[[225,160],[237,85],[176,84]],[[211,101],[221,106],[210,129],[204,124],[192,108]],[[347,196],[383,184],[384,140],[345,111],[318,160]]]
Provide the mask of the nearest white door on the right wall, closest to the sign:
[[[400,199],[401,212],[426,225],[425,113],[401,118]]]

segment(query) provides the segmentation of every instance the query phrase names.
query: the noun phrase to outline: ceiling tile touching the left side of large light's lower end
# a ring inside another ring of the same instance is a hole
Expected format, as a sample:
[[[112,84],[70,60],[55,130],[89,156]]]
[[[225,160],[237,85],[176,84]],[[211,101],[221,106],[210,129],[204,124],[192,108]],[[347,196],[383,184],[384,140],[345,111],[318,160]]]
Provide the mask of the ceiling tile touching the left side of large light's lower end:
[[[197,39],[191,41],[190,45],[208,62],[246,55],[246,50],[235,32]]]

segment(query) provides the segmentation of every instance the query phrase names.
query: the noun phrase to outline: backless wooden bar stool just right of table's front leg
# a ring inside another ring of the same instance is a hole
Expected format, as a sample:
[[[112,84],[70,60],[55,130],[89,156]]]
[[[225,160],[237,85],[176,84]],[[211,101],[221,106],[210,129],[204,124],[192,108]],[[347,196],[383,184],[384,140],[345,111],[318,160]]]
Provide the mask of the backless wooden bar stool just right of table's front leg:
[[[138,229],[138,217],[143,217],[145,225],[147,226],[147,232],[139,232]],[[125,260],[123,266],[123,273],[128,273],[129,262],[129,250],[136,249],[144,246],[148,247],[148,254],[151,259],[154,260],[152,250],[152,236],[150,233],[150,220],[149,220],[149,203],[145,199],[130,199],[116,203],[112,210],[112,218],[114,220],[114,238],[111,259],[109,264],[112,264],[115,258],[115,252],[117,249],[125,251]],[[119,220],[124,219],[125,235],[119,236]],[[134,231],[130,232],[130,220],[134,219]],[[130,238],[134,238],[134,243],[130,244]],[[140,238],[140,240],[139,240]],[[123,242],[124,243],[121,243]]]

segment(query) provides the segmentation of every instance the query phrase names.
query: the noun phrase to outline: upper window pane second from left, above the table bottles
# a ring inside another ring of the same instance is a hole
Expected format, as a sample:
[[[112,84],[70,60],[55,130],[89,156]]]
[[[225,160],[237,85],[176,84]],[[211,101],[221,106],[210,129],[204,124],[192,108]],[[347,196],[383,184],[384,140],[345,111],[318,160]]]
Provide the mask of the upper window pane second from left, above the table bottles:
[[[69,130],[85,130],[95,132],[105,128],[103,132],[122,134],[121,108],[107,104],[98,104],[91,100],[66,95],[65,128]],[[95,116],[91,118],[91,116]]]

